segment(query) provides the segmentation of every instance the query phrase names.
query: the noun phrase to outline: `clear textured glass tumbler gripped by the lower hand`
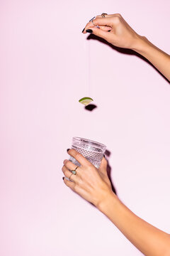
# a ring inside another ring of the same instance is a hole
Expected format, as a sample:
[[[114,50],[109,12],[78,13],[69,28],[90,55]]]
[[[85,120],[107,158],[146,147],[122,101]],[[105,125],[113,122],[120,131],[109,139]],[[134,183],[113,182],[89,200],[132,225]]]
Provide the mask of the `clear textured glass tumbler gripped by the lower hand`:
[[[91,164],[94,164],[94,166],[96,166],[98,169],[101,164],[101,159],[103,159],[103,154],[106,151],[106,146],[98,142],[93,142],[90,139],[73,137],[72,149],[75,149],[81,155],[86,157],[86,159],[90,161]],[[80,166],[79,162],[72,156],[69,160],[77,166]]]

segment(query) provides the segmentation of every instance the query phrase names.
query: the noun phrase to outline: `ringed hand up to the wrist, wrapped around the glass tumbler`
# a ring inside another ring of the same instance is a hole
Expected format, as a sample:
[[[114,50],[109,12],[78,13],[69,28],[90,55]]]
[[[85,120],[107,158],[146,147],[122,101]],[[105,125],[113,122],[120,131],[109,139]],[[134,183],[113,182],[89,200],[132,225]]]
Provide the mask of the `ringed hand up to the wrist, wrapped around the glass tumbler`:
[[[68,154],[76,159],[81,166],[77,169],[77,174],[72,174],[69,170],[76,169],[72,161],[64,160],[62,171],[64,176],[69,178],[72,174],[71,181],[64,178],[64,183],[82,198],[93,203],[97,208],[105,201],[105,198],[113,194],[111,181],[107,175],[107,161],[103,157],[99,169],[87,161],[84,156],[74,149],[69,149]]]

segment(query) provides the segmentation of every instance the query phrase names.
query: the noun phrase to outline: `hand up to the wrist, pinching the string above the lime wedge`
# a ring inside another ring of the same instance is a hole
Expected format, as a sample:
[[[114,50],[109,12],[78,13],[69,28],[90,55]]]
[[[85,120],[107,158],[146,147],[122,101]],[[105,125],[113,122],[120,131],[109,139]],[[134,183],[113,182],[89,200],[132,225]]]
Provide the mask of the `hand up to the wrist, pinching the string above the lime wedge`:
[[[100,36],[114,46],[130,49],[135,48],[139,39],[142,38],[120,14],[106,15],[105,18],[96,16],[93,22],[89,21],[86,24],[83,33],[87,32]]]

